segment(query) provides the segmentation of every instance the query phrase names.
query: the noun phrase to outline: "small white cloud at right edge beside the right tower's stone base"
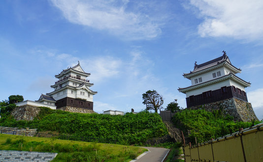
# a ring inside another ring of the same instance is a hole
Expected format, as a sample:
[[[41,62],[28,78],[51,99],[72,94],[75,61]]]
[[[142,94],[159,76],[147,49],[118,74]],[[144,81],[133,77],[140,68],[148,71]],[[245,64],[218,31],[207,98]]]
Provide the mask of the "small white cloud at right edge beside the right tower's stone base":
[[[263,107],[263,88],[256,89],[254,91],[248,92],[248,101],[252,104],[254,109]]]

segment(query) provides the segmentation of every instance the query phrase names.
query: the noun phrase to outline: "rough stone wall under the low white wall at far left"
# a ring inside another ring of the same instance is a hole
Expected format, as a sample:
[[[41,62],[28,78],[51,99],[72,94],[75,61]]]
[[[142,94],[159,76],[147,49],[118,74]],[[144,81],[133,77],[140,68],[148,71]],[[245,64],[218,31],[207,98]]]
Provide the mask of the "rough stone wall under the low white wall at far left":
[[[33,120],[39,112],[40,108],[25,105],[14,108],[11,112],[11,115],[14,116],[15,120]]]

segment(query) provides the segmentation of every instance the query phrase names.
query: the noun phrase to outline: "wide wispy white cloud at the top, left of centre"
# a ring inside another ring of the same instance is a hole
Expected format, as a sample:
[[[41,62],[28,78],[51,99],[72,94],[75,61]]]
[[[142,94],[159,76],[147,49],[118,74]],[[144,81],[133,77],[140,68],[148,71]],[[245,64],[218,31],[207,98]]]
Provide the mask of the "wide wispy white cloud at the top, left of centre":
[[[143,10],[147,6],[145,3],[141,6],[138,2],[134,5],[136,7],[128,8],[129,0],[51,1],[71,23],[107,30],[113,35],[131,40],[157,37],[161,34],[160,26],[165,19],[164,15],[146,13],[147,11]],[[152,7],[150,4],[148,6]],[[160,12],[156,13],[160,14]]]

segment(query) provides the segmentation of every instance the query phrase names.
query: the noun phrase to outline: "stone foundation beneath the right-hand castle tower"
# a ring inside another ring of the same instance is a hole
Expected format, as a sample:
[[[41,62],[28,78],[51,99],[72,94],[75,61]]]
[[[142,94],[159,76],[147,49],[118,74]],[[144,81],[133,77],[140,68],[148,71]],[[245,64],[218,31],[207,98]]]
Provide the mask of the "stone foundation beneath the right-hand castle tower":
[[[251,122],[251,120],[259,120],[252,108],[251,103],[247,103],[235,98],[222,100],[214,103],[190,107],[190,109],[204,108],[207,111],[222,110],[224,114],[229,114],[236,121]]]

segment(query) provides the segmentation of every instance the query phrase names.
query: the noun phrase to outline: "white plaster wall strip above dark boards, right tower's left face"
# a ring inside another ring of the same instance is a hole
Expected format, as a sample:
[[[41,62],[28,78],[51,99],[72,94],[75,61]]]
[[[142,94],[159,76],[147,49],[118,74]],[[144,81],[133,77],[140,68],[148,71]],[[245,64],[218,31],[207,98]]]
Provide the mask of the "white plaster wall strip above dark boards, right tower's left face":
[[[225,81],[219,81],[219,82],[216,82],[216,83],[213,83],[213,84],[202,86],[202,87],[197,88],[197,89],[190,90],[190,91],[186,92],[186,97],[189,97],[189,96],[192,96],[192,95],[202,94],[203,92],[206,92],[206,91],[209,91],[209,90],[220,89],[223,86],[230,86],[230,79],[225,80]]]

